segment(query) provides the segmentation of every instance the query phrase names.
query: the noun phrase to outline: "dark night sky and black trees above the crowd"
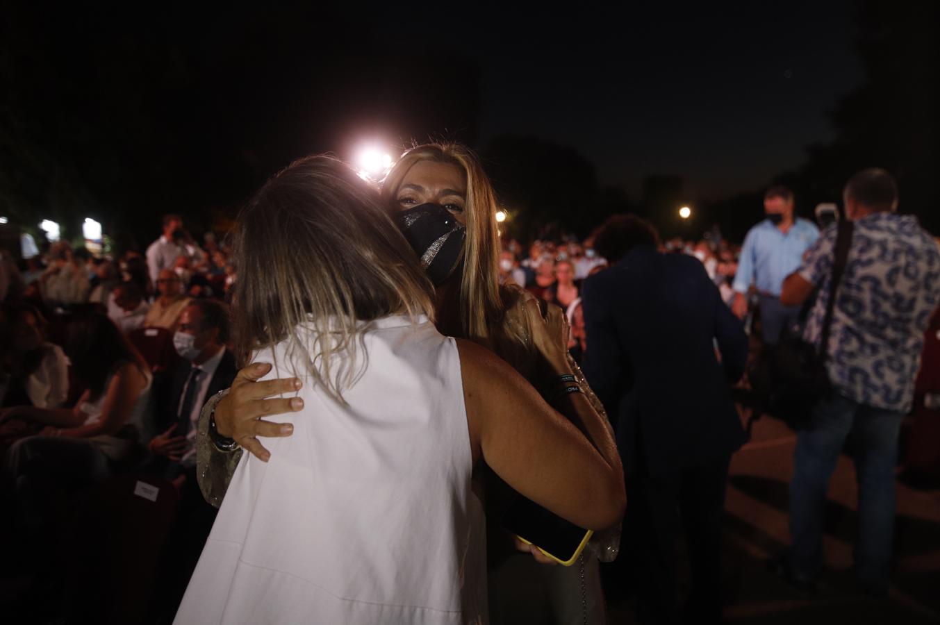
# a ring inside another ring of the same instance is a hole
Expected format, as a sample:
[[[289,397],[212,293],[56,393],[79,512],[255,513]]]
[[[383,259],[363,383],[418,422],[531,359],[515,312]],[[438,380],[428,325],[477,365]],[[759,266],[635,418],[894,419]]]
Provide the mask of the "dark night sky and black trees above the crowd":
[[[718,224],[740,240],[768,184],[809,215],[872,165],[940,233],[937,3],[699,4],[5,3],[0,215],[70,239],[93,217],[146,247],[164,212],[226,230],[298,156],[431,138],[478,151],[523,239],[632,210],[666,235]]]

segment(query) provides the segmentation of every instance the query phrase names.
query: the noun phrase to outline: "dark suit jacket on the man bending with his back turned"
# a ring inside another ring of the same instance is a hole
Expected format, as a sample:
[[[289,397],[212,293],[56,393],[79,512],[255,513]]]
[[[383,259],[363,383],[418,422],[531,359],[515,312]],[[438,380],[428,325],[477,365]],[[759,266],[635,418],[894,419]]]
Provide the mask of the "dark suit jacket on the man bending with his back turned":
[[[697,258],[635,247],[587,278],[582,301],[582,367],[628,474],[672,472],[744,443],[730,384],[744,373],[747,336]]]

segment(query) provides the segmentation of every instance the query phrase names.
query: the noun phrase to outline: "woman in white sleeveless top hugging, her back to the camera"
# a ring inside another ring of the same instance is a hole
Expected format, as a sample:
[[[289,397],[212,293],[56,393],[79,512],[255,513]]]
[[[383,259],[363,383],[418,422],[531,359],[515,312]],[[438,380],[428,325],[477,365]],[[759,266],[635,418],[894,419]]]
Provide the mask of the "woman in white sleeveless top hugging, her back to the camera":
[[[305,408],[269,462],[243,455],[177,623],[485,622],[484,457],[573,523],[619,522],[616,446],[587,398],[556,401],[586,437],[492,352],[441,336],[425,274],[352,170],[292,164],[237,232],[237,347],[297,375]],[[561,315],[529,312],[545,367],[567,373]]]

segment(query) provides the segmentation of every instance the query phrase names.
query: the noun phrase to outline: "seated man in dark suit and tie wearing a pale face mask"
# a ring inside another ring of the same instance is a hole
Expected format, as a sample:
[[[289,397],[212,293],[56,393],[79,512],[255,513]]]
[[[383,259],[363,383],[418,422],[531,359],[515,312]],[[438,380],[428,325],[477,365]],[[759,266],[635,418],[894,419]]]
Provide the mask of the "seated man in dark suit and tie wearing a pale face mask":
[[[164,606],[173,611],[215,521],[216,509],[203,499],[196,482],[196,422],[206,401],[231,386],[238,373],[235,356],[226,348],[228,337],[226,305],[193,300],[183,309],[173,336],[182,362],[158,406],[156,425],[163,433],[149,443],[154,467],[180,489],[180,511],[161,576]]]

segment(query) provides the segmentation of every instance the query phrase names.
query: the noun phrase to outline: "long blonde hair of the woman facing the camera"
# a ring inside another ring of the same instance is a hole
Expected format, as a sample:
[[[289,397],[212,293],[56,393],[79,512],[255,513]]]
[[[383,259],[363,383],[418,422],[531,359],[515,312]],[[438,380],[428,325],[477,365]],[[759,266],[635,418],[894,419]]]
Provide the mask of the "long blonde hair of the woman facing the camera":
[[[395,211],[395,199],[408,171],[422,161],[446,163],[462,171],[466,179],[466,242],[460,285],[462,338],[477,341],[510,365],[527,374],[533,354],[524,316],[508,320],[509,308],[521,304],[521,289],[499,285],[499,233],[496,229],[496,195],[477,155],[460,144],[425,144],[408,149],[389,170],[382,184],[385,206]]]

